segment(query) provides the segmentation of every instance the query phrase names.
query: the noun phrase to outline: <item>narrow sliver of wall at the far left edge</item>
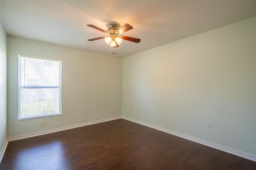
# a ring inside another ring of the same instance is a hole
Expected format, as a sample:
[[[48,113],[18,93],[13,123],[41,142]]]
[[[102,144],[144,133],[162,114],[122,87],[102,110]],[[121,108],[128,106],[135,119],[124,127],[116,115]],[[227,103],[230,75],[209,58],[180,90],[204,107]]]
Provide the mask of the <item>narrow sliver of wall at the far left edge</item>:
[[[7,111],[6,111],[6,88],[7,88],[7,36],[0,22],[0,151],[3,149],[7,138]],[[1,157],[1,155],[0,155]],[[0,158],[1,160],[1,158]]]

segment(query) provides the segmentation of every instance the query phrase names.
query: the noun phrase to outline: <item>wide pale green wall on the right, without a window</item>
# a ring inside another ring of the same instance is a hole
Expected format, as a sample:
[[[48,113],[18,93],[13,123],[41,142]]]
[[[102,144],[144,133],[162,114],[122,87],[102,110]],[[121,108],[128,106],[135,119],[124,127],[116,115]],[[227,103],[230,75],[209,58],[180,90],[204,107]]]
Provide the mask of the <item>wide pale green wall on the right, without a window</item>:
[[[256,155],[255,86],[256,17],[122,58],[122,116]]]

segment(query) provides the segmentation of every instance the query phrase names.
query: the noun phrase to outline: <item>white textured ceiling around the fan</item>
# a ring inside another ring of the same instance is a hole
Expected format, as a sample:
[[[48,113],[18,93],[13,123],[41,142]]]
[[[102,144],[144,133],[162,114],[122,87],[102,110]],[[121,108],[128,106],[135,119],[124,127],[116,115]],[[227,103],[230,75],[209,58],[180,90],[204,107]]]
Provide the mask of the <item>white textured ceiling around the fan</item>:
[[[0,0],[0,15],[10,36],[124,57],[256,16],[256,0]],[[88,24],[111,23],[130,24],[122,35],[141,42],[124,40],[112,54],[104,39],[87,41],[106,36]]]

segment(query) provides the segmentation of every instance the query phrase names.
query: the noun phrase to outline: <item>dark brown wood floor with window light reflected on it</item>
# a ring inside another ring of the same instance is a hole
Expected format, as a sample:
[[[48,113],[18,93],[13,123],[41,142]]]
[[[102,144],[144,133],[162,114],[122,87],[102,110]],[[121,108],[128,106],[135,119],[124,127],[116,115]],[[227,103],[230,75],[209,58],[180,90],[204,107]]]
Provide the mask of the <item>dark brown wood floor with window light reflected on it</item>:
[[[124,119],[9,142],[1,170],[242,170],[256,162]]]

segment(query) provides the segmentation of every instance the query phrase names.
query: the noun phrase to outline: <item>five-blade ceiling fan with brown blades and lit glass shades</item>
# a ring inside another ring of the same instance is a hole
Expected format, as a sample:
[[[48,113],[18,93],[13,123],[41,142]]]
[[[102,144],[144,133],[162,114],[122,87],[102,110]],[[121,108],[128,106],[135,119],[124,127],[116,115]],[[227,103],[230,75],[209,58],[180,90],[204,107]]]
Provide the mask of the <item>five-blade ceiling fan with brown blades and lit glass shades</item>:
[[[124,26],[122,26],[119,29],[116,28],[116,26],[117,26],[116,24],[110,24],[110,28],[108,28],[106,31],[102,30],[101,28],[98,28],[94,25],[87,25],[87,26],[108,34],[108,36],[93,38],[88,41],[100,40],[100,39],[104,38],[105,42],[113,48],[119,47],[120,43],[122,43],[122,40],[127,40],[130,42],[136,42],[136,43],[140,42],[140,39],[138,39],[138,38],[120,36],[120,34],[123,34],[124,32],[129,31],[129,30],[132,30],[133,27],[130,26],[129,24],[125,24]],[[114,51],[113,51],[113,54],[114,54]],[[117,51],[116,51],[116,54],[117,54]]]

